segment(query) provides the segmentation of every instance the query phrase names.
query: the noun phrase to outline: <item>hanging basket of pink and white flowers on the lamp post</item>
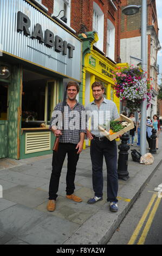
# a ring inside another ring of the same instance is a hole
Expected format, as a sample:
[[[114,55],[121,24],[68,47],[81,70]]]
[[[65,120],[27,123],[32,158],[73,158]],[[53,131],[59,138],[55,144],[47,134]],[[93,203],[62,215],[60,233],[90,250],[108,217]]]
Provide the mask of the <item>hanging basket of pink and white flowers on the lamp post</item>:
[[[147,72],[134,65],[118,67],[118,71],[114,74],[115,95],[120,97],[121,101],[126,101],[126,106],[131,111],[140,109],[145,95],[147,95],[147,105],[150,105],[152,89],[151,86],[147,86],[146,74]]]

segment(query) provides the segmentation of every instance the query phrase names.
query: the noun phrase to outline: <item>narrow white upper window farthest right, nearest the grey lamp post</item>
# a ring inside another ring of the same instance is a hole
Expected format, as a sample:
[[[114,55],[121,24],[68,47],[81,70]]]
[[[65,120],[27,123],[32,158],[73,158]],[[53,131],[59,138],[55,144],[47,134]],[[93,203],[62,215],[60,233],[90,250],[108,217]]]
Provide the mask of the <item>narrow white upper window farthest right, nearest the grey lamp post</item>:
[[[106,56],[114,60],[115,55],[115,27],[110,20],[107,20],[107,49]]]

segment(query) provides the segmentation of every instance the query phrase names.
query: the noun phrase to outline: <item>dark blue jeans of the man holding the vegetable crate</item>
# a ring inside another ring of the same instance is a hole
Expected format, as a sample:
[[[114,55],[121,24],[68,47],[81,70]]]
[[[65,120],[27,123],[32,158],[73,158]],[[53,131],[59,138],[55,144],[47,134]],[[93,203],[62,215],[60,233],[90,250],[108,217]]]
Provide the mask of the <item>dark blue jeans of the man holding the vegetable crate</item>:
[[[103,156],[107,166],[107,201],[118,202],[118,173],[116,142],[105,138],[98,141],[95,138],[90,143],[90,157],[92,161],[93,190],[96,197],[103,195]]]

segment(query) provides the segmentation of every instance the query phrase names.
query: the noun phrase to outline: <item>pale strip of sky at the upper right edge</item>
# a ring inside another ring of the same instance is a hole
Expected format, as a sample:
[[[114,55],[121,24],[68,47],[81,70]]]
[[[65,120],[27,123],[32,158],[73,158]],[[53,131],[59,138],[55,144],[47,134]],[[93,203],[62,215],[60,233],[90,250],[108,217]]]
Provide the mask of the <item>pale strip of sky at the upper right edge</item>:
[[[162,74],[162,1],[156,0],[157,7],[157,16],[158,16],[158,27],[159,27],[159,41],[161,45],[161,50],[158,51],[158,64],[159,64],[159,73]],[[162,78],[162,75],[159,75],[158,78]]]

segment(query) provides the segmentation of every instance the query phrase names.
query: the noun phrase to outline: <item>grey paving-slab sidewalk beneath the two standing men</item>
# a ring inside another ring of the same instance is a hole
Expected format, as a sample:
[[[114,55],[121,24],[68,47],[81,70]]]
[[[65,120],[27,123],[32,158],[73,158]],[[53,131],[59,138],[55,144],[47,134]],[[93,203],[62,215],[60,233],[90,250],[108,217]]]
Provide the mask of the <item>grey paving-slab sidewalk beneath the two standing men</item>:
[[[95,205],[87,204],[87,200],[94,195],[89,148],[80,154],[75,179],[75,194],[83,202],[75,203],[65,197],[66,159],[54,212],[46,210],[51,155],[18,161],[0,160],[0,185],[3,187],[3,198],[0,198],[0,244],[105,245],[160,166],[161,137],[157,154],[153,155],[154,162],[149,166],[133,162],[131,149],[139,148],[130,148],[129,179],[119,180],[118,212],[110,212],[106,202],[105,162],[103,200]]]

